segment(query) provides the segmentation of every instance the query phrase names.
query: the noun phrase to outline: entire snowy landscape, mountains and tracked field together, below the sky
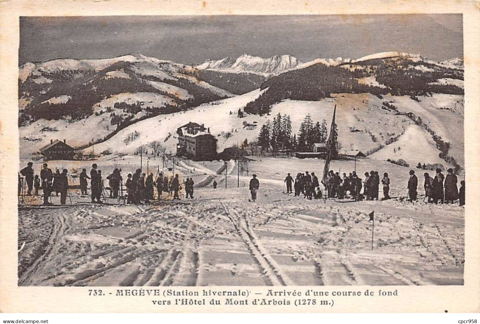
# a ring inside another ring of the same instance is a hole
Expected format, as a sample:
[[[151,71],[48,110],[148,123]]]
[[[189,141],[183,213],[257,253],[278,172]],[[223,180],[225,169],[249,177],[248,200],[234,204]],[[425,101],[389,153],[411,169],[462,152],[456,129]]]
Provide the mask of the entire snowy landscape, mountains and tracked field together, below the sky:
[[[50,140],[65,139],[75,159],[47,161],[68,170],[68,209],[35,209],[40,196],[22,198],[19,285],[462,285],[464,207],[422,199],[431,166],[454,168],[459,180],[465,172],[463,72],[461,59],[401,52],[308,62],[244,54],[184,65],[129,54],[24,63],[21,168],[34,161],[38,173],[39,150]],[[388,172],[392,199],[308,200],[285,192],[287,173],[309,170],[321,179],[324,159],[292,155],[306,120],[329,130],[335,107],[341,158],[330,169],[355,170],[362,179]],[[261,130],[277,120],[290,122],[288,145],[262,146]],[[175,156],[177,130],[191,122],[216,138],[218,159]],[[228,156],[239,147],[248,167]],[[360,152],[365,157],[354,157]],[[107,204],[89,204],[77,187],[92,163],[104,175],[120,168],[123,182],[140,167],[192,178],[194,199],[182,188],[180,201],[164,192],[149,204],[108,194]],[[419,178],[413,203],[410,169]],[[251,203],[253,173],[260,188]]]

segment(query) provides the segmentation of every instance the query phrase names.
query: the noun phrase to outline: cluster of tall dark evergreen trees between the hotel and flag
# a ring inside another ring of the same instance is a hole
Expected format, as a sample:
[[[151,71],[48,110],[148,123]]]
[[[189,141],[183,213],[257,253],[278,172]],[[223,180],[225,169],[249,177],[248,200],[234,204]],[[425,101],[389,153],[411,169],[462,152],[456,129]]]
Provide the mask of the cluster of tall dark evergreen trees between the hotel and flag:
[[[258,144],[262,151],[270,149],[275,152],[311,152],[314,143],[325,143],[328,136],[326,120],[314,122],[307,114],[300,124],[298,136],[292,135],[292,124],[289,115],[278,113],[272,122],[268,120],[260,128]]]

